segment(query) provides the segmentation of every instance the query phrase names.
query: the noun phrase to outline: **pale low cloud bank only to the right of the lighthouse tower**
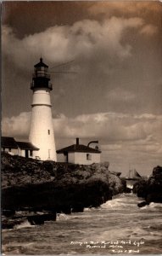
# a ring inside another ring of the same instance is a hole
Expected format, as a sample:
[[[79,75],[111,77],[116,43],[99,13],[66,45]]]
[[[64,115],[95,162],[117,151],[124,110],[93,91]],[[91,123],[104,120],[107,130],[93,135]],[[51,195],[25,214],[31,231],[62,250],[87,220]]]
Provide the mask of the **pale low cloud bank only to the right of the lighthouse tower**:
[[[82,114],[68,119],[64,115],[54,120],[56,132],[63,137],[98,138],[106,142],[129,142],[145,140],[149,136],[154,141],[161,140],[162,116],[148,114],[131,115],[124,113]],[[64,127],[64,129],[61,127]]]

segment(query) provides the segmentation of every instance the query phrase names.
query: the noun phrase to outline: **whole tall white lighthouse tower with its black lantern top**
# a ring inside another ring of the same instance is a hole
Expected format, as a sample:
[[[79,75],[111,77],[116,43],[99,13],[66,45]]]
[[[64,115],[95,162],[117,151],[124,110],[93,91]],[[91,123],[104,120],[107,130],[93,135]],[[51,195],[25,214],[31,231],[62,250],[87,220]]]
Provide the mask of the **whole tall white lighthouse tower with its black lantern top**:
[[[33,151],[33,158],[56,161],[56,148],[53,133],[52,105],[50,91],[53,90],[50,83],[48,66],[40,62],[34,66],[31,83],[33,101],[31,104],[31,131],[29,141],[39,148]]]

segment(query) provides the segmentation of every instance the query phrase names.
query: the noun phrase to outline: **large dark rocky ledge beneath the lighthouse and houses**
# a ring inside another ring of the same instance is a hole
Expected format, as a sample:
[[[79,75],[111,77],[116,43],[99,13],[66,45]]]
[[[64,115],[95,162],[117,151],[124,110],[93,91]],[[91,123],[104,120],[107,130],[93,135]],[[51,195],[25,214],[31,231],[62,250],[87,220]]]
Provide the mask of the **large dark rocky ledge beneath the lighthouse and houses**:
[[[25,209],[82,212],[99,207],[125,186],[103,164],[80,166],[2,154],[2,207],[7,214]]]

